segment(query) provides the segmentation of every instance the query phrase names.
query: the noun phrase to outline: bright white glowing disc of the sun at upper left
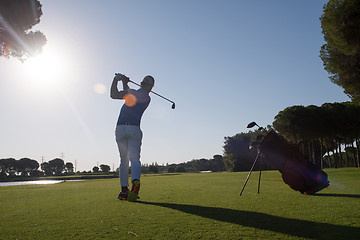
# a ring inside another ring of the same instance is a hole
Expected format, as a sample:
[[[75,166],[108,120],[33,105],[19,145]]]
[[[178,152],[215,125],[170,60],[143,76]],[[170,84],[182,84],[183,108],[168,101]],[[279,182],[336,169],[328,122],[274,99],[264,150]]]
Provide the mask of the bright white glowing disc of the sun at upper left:
[[[42,53],[24,63],[24,81],[36,90],[59,87],[69,72],[67,64],[60,49],[45,45]]]

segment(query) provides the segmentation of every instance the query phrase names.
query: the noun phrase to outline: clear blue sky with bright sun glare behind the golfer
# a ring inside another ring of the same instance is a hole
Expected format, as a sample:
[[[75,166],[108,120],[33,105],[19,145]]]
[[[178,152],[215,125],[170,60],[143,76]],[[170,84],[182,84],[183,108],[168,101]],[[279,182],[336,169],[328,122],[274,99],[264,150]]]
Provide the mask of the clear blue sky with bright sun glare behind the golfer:
[[[148,164],[209,159],[251,121],[349,100],[319,58],[325,0],[40,2],[42,55],[0,58],[0,158],[116,168],[117,72],[152,75],[153,90],[176,102],[172,110],[152,95],[142,119]]]

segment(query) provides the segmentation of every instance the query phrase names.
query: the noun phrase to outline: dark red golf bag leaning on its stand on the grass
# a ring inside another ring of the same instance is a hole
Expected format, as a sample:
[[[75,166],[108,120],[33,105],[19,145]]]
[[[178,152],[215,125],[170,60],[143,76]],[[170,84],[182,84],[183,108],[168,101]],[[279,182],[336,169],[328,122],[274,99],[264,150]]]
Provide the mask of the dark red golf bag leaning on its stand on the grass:
[[[263,159],[282,174],[292,189],[314,194],[329,186],[327,174],[308,161],[295,144],[288,143],[274,131],[266,134],[259,145]]]

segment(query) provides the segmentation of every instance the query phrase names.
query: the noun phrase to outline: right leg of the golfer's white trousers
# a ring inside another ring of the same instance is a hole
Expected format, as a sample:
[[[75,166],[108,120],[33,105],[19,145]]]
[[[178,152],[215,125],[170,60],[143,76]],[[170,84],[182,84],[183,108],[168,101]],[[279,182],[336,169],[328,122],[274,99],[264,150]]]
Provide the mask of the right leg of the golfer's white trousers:
[[[140,128],[134,127],[132,137],[129,139],[129,158],[131,162],[131,181],[140,180],[141,175],[141,150],[142,132]]]

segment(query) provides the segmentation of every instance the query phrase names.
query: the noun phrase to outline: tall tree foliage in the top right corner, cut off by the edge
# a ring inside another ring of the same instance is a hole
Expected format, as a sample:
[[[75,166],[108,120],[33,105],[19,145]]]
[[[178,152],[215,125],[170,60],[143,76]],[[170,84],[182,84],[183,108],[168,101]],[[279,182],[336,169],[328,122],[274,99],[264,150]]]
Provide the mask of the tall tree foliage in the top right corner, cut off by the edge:
[[[352,101],[360,102],[360,1],[329,0],[320,20],[325,70]]]

